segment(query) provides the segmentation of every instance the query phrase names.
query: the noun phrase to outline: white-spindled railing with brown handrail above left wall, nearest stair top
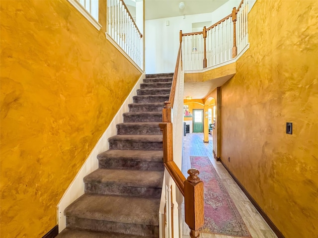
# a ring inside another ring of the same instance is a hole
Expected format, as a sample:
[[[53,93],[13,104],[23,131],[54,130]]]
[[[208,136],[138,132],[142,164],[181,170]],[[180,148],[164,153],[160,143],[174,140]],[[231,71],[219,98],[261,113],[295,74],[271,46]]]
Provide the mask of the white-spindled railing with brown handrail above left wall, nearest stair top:
[[[107,0],[107,34],[143,68],[143,34],[123,0]]]

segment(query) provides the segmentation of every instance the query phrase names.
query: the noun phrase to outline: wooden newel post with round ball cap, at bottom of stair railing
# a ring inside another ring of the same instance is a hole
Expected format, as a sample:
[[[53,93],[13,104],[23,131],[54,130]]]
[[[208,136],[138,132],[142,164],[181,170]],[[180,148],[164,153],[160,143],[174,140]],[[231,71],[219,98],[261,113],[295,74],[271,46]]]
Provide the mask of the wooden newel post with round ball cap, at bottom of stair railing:
[[[184,181],[184,215],[191,238],[200,236],[198,230],[204,224],[203,182],[198,177],[199,173],[196,169],[189,169],[189,177]]]

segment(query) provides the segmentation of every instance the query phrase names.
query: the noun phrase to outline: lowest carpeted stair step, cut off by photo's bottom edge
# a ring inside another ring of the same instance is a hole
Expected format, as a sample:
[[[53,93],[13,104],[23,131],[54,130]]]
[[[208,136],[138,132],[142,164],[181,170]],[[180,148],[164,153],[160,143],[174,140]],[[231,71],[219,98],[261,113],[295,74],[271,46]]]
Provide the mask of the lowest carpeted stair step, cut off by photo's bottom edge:
[[[145,237],[66,228],[57,236],[57,238],[145,238]]]

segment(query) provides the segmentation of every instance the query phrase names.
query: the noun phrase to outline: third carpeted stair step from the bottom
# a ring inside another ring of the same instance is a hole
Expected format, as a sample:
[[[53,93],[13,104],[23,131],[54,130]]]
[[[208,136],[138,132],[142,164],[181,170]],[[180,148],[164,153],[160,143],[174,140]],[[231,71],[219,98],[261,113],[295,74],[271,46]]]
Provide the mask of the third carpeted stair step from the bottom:
[[[160,198],[163,171],[97,169],[84,177],[85,193]]]

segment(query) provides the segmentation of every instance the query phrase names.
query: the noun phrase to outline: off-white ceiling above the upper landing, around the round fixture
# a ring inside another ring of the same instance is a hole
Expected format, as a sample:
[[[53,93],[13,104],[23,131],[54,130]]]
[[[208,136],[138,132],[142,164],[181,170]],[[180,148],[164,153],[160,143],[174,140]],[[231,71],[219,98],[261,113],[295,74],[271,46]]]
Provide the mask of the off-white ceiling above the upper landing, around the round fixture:
[[[146,20],[212,12],[229,0],[145,0]],[[184,2],[184,9],[179,3]]]

